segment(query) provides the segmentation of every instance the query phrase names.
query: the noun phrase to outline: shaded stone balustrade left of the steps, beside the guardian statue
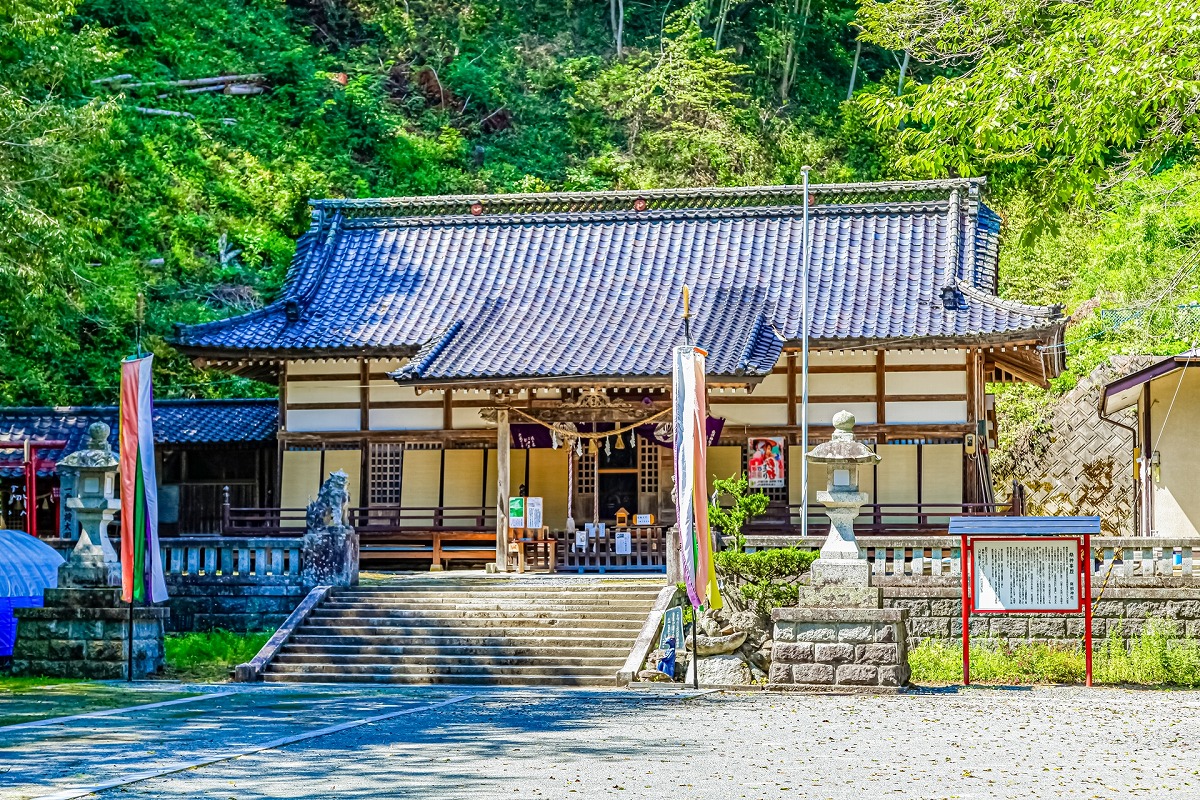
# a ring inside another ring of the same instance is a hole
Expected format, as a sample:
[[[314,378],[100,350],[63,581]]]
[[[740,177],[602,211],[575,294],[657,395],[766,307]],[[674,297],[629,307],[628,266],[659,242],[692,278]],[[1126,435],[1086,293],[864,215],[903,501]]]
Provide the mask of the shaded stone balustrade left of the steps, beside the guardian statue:
[[[300,539],[180,536],[163,539],[167,578],[244,578],[262,582],[300,575]]]

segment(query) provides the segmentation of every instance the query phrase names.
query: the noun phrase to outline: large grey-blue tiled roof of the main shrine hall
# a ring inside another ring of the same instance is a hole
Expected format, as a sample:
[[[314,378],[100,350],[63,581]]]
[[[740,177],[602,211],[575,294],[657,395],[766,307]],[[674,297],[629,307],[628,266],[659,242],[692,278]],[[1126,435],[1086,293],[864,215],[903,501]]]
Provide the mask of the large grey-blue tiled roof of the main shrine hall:
[[[1060,326],[1056,308],[995,296],[1000,222],[980,186],[811,187],[811,338]],[[283,297],[180,329],[179,343],[214,357],[390,353],[410,356],[397,379],[428,383],[656,377],[683,338],[686,284],[709,372],[769,372],[802,331],[799,187],[641,194],[643,211],[632,192],[317,201]]]

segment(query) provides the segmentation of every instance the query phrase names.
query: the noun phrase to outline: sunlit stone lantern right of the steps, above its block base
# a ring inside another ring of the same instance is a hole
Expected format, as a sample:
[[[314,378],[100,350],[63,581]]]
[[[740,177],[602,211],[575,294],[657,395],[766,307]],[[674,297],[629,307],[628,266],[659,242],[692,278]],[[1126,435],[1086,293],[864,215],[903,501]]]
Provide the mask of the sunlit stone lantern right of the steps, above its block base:
[[[821,558],[812,563],[810,595],[818,604],[878,603],[878,590],[870,590],[870,565],[858,549],[854,539],[854,518],[866,503],[859,492],[859,469],[875,464],[880,457],[854,439],[854,415],[839,411],[833,417],[833,438],[805,453],[811,464],[824,464],[826,489],[817,492],[817,501],[829,517],[829,534],[821,546]],[[828,590],[826,590],[828,589]]]

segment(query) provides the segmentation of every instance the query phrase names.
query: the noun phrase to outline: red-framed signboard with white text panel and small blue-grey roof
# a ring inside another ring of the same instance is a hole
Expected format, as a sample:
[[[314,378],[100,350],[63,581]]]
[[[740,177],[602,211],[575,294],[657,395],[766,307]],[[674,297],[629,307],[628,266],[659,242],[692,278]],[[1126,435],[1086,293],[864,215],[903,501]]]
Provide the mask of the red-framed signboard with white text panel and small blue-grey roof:
[[[961,540],[962,684],[971,682],[972,614],[1082,614],[1092,685],[1091,537],[1099,517],[955,517]]]

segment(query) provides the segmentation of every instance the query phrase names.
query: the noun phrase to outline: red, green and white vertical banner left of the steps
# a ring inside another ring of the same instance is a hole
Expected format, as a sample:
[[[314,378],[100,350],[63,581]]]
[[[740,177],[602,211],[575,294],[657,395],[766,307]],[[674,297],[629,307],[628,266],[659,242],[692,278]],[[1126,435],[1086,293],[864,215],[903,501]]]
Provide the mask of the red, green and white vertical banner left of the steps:
[[[158,549],[158,488],[154,469],[154,356],[121,362],[121,600],[158,603],[167,581]]]

